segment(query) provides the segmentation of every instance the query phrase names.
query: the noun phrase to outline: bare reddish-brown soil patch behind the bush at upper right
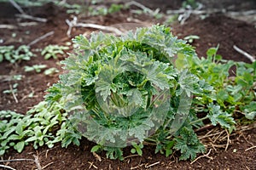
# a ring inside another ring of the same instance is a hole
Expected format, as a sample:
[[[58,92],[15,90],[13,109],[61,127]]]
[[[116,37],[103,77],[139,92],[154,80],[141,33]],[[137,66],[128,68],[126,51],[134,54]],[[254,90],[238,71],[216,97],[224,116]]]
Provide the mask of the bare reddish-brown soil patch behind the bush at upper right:
[[[256,54],[255,28],[240,20],[233,20],[224,15],[212,15],[205,20],[191,20],[183,26],[173,26],[173,31],[178,37],[197,35],[193,46],[198,56],[206,56],[207,49],[217,47],[218,54],[224,59],[250,62],[249,59],[236,52],[233,45],[246,49],[249,54]]]

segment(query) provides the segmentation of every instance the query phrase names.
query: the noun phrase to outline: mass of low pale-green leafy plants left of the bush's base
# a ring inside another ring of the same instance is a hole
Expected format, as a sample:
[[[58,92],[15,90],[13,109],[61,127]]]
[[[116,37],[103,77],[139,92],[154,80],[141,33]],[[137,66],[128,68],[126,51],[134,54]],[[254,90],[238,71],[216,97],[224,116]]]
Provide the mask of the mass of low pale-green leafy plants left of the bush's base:
[[[0,111],[0,155],[11,147],[21,152],[29,143],[35,149],[44,144],[51,148],[57,142],[62,142],[63,147],[71,143],[79,145],[81,135],[73,131],[61,107],[55,103],[48,108],[46,102],[41,102],[26,115]]]

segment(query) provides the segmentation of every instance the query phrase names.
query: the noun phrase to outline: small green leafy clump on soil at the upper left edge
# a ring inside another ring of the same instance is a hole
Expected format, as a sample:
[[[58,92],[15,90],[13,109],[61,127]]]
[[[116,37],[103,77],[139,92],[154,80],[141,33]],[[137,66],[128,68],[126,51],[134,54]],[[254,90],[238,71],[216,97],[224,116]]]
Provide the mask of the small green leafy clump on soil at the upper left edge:
[[[1,46],[0,47],[0,62],[3,59],[8,60],[10,63],[15,63],[20,60],[30,60],[34,56],[30,51],[30,47],[21,45],[15,49],[14,46]]]

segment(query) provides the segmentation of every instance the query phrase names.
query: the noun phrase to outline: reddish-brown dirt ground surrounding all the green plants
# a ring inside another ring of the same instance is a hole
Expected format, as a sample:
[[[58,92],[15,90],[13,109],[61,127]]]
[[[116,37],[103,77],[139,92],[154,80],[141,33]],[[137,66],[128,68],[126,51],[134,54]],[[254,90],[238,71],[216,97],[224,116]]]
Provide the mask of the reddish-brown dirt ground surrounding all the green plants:
[[[79,1],[78,1],[79,2]],[[164,3],[166,1],[151,0],[138,1],[149,8],[162,8],[163,10],[178,9],[182,3],[173,1],[172,3]],[[242,0],[223,0],[222,3],[214,3],[215,1],[199,1],[203,3],[206,9],[230,9],[235,12],[244,12],[255,10],[255,1]],[[19,12],[10,3],[0,3],[0,25],[12,25],[14,29],[0,29],[0,39],[3,40],[0,45],[15,45],[28,44],[38,37],[49,31],[54,31],[52,36],[49,36],[42,41],[32,45],[32,51],[38,57],[32,58],[29,61],[22,61],[15,65],[9,64],[7,61],[0,63],[0,111],[11,110],[21,114],[26,114],[33,105],[44,99],[45,90],[54,82],[58,81],[58,75],[61,74],[61,65],[59,61],[67,57],[67,54],[59,56],[59,59],[44,59],[38,52],[38,48],[44,48],[49,44],[65,45],[66,42],[71,42],[71,38],[79,34],[88,35],[91,31],[96,31],[91,28],[73,28],[71,37],[67,37],[68,26],[66,19],[73,20],[71,14],[67,14],[64,8],[55,7],[53,4],[46,4],[43,7],[24,8],[27,14],[46,18],[46,23],[37,22],[35,26],[20,26],[19,23],[28,22],[31,20],[17,19],[15,14]],[[233,59],[236,61],[250,62],[249,59],[236,52],[233,45],[247,51],[248,54],[256,55],[256,16],[241,17],[241,15],[232,15],[232,18],[222,12],[217,14],[209,14],[204,20],[199,16],[191,16],[183,25],[178,22],[172,22],[172,32],[179,38],[189,35],[197,35],[200,39],[196,39],[192,45],[195,47],[198,56],[205,56],[207,48],[216,47],[219,44],[218,54],[224,59]],[[242,18],[242,19],[241,19]],[[253,20],[254,19],[254,20]],[[106,16],[80,17],[79,20],[95,23],[102,26],[111,26],[127,22],[137,22],[141,25],[151,25],[154,23],[162,23],[163,20],[156,20],[148,14],[131,14],[128,10],[121,10],[116,14],[108,14]],[[14,37],[14,33],[16,37]],[[67,51],[66,51],[67,52]],[[72,50],[69,50],[72,52]],[[25,65],[48,65],[48,68],[56,67],[60,70],[54,76],[45,76],[44,73],[26,72]],[[19,83],[17,100],[15,101],[12,95],[3,94],[3,90],[9,89],[9,86],[14,81],[8,81],[8,78],[20,74],[22,80],[16,81]],[[29,94],[33,93],[32,97]],[[124,151],[125,161],[113,161],[105,158],[104,153],[101,153],[102,161],[97,161],[96,157],[90,153],[93,143],[83,139],[82,144],[78,146],[70,145],[67,149],[61,148],[60,144],[54,148],[48,149],[41,147],[34,150],[32,145],[26,146],[25,150],[18,154],[15,150],[9,150],[9,153],[1,157],[7,159],[34,159],[33,156],[38,156],[39,162],[44,169],[256,169],[256,149],[251,148],[256,145],[256,124],[246,127],[237,127],[235,133],[230,135],[230,140],[224,136],[223,140],[219,140],[216,144],[211,143],[210,138],[204,136],[212,132],[221,132],[218,127],[198,133],[201,136],[201,141],[207,146],[208,155],[201,156],[195,162],[177,161],[178,155],[174,153],[170,157],[165,157],[160,154],[155,155],[154,150],[149,146],[143,149],[143,156],[131,156],[131,148]],[[222,133],[224,134],[224,133]],[[228,140],[228,141],[227,141]],[[227,146],[228,142],[228,147]],[[211,145],[212,144],[212,145]],[[226,148],[226,150],[225,150]],[[4,165],[14,167],[15,169],[36,169],[33,161],[14,161]],[[1,168],[1,167],[0,167]]]

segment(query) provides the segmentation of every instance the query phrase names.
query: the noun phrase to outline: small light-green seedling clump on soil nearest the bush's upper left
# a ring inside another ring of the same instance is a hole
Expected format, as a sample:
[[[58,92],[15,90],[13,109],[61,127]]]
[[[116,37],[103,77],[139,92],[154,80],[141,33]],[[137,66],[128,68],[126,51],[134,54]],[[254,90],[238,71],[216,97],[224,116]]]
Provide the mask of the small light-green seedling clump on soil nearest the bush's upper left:
[[[49,45],[42,50],[41,54],[44,56],[44,59],[50,59],[50,58],[58,59],[57,55],[64,54],[63,50],[67,50],[67,49],[69,48],[66,46]]]

